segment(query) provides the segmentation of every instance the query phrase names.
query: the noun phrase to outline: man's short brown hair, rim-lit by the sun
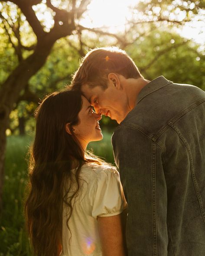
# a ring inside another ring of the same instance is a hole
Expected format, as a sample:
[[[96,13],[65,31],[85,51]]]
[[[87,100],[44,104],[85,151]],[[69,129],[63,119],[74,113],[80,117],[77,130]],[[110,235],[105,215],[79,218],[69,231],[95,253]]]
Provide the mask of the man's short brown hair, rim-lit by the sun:
[[[72,79],[72,89],[80,90],[81,85],[87,83],[91,88],[100,85],[105,90],[109,73],[117,73],[127,79],[143,77],[124,50],[117,47],[95,48],[82,58]]]

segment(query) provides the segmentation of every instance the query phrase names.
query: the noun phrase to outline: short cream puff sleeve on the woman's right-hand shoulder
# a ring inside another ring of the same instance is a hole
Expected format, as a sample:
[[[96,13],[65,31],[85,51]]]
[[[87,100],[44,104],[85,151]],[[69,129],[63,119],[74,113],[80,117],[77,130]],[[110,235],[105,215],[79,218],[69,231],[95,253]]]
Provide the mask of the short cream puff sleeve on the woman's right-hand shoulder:
[[[114,216],[127,208],[119,173],[105,169],[98,173],[92,191],[92,216]]]

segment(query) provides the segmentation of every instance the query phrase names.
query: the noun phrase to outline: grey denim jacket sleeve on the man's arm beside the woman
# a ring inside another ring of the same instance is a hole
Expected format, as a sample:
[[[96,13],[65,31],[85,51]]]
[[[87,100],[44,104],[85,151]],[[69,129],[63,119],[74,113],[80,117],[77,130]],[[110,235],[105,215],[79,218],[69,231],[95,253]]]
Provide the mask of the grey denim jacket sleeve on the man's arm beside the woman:
[[[112,136],[112,144],[128,203],[128,255],[166,256],[167,192],[163,150],[151,136],[132,126],[119,126]]]

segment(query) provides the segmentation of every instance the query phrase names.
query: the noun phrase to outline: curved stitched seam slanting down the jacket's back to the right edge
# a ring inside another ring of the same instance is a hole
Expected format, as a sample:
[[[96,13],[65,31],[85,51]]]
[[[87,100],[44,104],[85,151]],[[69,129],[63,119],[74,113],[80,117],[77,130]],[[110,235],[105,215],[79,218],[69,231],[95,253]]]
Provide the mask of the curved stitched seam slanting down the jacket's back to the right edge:
[[[191,163],[191,173],[192,173],[192,180],[193,180],[193,183],[194,183],[194,187],[195,187],[195,193],[196,193],[196,196],[198,198],[198,203],[199,203],[199,207],[200,207],[200,211],[201,211],[201,214],[202,214],[202,218],[204,220],[204,223],[205,223],[205,211],[204,211],[204,207],[203,207],[203,203],[202,203],[202,197],[199,193],[199,190],[198,190],[198,183],[197,183],[197,180],[196,180],[196,177],[195,177],[195,171],[194,171],[194,166],[193,166],[193,160],[192,160],[192,155],[191,155],[191,151],[189,149],[189,145],[188,143],[186,142],[185,138],[182,136],[182,134],[180,133],[180,131],[176,128],[176,126],[172,125],[172,128],[176,131],[176,133],[178,133],[180,139],[183,141],[183,143],[185,144],[186,146],[186,149],[188,151],[188,154],[189,154],[189,160],[190,160],[190,163]]]

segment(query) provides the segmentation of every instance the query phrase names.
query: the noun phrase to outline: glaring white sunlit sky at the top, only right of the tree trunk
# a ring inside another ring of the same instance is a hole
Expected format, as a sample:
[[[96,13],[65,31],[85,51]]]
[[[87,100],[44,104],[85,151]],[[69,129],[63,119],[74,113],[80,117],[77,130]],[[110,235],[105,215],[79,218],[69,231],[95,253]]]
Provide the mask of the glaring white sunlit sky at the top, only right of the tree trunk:
[[[153,13],[143,13],[142,11],[134,10],[134,6],[139,3],[140,0],[92,0],[88,5],[88,11],[84,14],[83,19],[80,20],[80,24],[89,28],[104,28],[110,33],[119,33],[125,31],[125,24],[129,20],[146,20],[149,21],[153,16],[159,16],[161,7],[153,7]],[[160,0],[158,0],[160,1]],[[180,1],[180,0],[179,0]],[[163,16],[169,20],[182,21],[185,19],[187,13],[185,10],[180,10],[179,7],[175,9],[173,13],[171,10],[175,7],[175,1],[172,5],[168,6],[167,10],[163,11]],[[188,3],[182,3],[184,7]],[[190,4],[190,9],[194,9],[195,3]],[[205,11],[201,11],[201,15],[198,15],[202,19]],[[148,14],[148,15],[147,15]],[[189,13],[189,15],[192,15]],[[203,19],[202,19],[203,20]],[[205,23],[202,21],[193,20],[184,27],[176,29],[182,37],[194,40],[196,43],[205,43]]]

